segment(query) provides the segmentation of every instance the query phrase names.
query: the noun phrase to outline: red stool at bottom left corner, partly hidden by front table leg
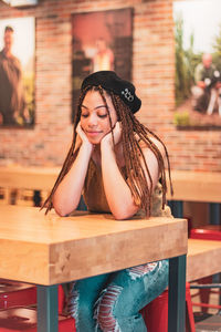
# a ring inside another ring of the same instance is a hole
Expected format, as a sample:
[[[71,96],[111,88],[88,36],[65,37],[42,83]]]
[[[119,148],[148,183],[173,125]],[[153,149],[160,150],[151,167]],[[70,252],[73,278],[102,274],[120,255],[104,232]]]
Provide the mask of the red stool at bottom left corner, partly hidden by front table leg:
[[[0,332],[36,332],[36,310],[13,308],[0,311]],[[59,332],[75,332],[74,319],[59,315]]]

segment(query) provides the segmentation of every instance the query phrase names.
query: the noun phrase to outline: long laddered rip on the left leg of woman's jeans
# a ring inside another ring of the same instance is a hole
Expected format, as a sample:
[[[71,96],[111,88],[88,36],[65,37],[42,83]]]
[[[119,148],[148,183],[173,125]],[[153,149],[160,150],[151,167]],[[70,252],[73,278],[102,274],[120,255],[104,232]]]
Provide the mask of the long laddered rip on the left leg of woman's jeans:
[[[110,284],[108,286],[95,303],[94,318],[97,321],[97,326],[104,332],[113,331],[120,332],[116,318],[113,314],[113,309],[122,292],[122,287]]]

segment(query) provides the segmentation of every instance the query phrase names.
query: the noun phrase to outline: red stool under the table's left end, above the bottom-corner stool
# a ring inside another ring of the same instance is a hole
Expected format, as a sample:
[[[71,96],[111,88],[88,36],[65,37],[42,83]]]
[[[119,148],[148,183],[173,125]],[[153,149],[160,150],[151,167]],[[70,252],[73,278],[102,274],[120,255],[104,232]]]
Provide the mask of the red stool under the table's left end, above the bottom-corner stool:
[[[36,303],[36,288],[29,283],[0,279],[0,310]]]

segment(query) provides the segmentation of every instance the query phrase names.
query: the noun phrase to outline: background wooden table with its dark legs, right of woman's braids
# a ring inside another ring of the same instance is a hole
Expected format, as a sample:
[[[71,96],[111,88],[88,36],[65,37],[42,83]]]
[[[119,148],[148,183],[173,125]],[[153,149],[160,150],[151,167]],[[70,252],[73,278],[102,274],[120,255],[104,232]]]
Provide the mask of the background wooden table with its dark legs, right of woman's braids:
[[[182,217],[183,201],[204,201],[210,205],[210,224],[220,222],[221,173],[172,170],[173,196],[168,193],[175,217]]]

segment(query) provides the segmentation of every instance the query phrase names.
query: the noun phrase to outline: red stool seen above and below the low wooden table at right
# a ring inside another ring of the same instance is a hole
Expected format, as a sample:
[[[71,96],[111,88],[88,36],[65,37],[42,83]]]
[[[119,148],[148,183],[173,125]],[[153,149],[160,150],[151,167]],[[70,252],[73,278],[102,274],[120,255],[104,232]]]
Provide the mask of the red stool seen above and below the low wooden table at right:
[[[220,225],[207,225],[200,228],[192,228],[190,230],[190,238],[191,239],[201,239],[201,240],[213,240],[213,241],[221,241],[221,226]],[[212,276],[202,278],[198,280],[199,283],[208,284],[212,283]],[[200,289],[199,295],[201,303],[209,303],[210,294],[213,291],[208,289]],[[197,293],[198,294],[198,293]],[[220,293],[221,295],[221,293]],[[199,303],[198,303],[199,304]],[[208,312],[208,307],[202,307],[201,311],[203,313]]]

